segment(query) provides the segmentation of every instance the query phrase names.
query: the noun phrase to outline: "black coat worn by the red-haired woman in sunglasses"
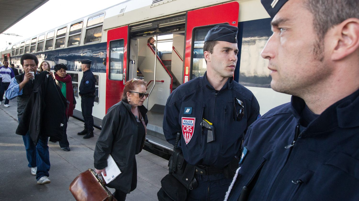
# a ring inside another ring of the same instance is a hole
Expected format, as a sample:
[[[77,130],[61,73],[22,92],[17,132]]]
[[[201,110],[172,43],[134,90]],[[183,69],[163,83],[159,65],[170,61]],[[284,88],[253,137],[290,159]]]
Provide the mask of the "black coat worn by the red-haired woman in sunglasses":
[[[139,106],[140,112],[147,125],[147,109]],[[94,151],[94,166],[98,170],[107,167],[107,157],[111,153],[113,160],[121,170],[121,174],[106,186],[130,193],[132,174],[134,172],[136,150],[142,151],[145,137],[141,147],[137,144],[138,124],[131,112],[131,105],[120,101],[108,109],[102,120],[102,130]],[[136,177],[135,177],[136,178]]]

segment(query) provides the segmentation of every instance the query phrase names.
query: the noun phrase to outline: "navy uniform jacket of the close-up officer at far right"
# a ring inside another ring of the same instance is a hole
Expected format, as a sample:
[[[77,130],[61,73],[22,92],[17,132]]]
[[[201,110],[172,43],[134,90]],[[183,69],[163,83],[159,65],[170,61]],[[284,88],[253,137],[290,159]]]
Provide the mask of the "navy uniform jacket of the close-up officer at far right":
[[[304,107],[293,96],[248,128],[229,200],[243,186],[248,200],[359,200],[359,90],[307,127],[298,126]]]

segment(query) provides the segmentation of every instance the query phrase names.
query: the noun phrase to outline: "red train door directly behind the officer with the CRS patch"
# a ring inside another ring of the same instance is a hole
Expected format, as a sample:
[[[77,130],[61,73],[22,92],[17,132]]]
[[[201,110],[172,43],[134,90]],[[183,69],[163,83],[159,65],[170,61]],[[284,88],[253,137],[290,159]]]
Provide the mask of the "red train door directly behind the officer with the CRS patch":
[[[238,13],[238,2],[221,4],[187,12],[183,83],[197,76],[202,76],[205,72],[206,67],[203,66],[204,60],[201,61],[201,55],[203,55],[203,52],[201,51],[203,50],[204,36],[207,31],[217,24],[226,23],[232,26],[238,26]],[[194,61],[194,58],[197,60]],[[192,69],[193,63],[197,65],[194,69]],[[198,66],[199,64],[202,66]],[[192,70],[196,71],[196,74],[193,73]]]

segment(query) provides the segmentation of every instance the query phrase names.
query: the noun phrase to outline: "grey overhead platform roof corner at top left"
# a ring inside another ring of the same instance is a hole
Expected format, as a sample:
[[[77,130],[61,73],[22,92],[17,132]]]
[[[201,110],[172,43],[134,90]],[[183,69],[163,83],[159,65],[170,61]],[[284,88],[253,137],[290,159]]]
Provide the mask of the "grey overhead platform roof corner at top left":
[[[48,0],[0,0],[0,34]]]

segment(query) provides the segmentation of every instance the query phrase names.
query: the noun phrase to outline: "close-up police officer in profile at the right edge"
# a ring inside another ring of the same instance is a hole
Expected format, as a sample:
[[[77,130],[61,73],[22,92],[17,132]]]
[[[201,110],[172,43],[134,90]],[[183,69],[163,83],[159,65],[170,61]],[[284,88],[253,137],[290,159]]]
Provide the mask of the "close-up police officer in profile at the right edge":
[[[254,122],[228,200],[359,200],[359,1],[262,0],[290,103]]]

